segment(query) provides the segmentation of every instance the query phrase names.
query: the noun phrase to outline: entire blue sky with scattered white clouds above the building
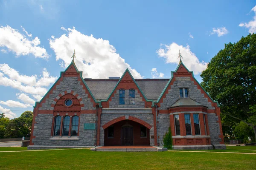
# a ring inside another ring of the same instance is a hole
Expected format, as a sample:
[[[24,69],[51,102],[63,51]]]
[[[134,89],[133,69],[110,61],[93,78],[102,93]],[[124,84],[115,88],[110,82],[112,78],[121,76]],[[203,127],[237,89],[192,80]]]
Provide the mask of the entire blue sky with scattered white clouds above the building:
[[[255,1],[0,0],[0,111],[32,111],[70,64],[83,77],[200,73],[228,42],[256,32]]]

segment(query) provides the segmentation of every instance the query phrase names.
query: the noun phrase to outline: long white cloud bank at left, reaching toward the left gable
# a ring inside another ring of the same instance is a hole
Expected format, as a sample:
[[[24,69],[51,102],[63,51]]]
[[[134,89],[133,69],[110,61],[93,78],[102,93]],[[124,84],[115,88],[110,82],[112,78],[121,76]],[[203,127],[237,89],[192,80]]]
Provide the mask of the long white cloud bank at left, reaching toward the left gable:
[[[47,92],[47,89],[43,86],[49,86],[56,79],[57,77],[49,76],[46,69],[43,70],[43,75],[27,76],[19,74],[8,64],[0,64],[0,85],[9,86],[27,94],[43,96]]]

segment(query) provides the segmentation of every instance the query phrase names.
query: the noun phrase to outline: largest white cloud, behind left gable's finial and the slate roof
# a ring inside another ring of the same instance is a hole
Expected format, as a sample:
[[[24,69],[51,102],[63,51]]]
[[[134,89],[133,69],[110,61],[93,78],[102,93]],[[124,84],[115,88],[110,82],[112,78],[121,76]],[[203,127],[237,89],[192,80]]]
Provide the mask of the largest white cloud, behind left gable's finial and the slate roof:
[[[142,78],[140,73],[132,69],[125,59],[116,53],[116,49],[108,40],[84,35],[74,27],[68,28],[67,31],[67,35],[63,34],[59,38],[52,37],[49,42],[56,54],[56,60],[64,61],[65,67],[70,64],[70,57],[76,49],[75,63],[78,69],[83,71],[83,77],[120,77],[128,68],[134,78]]]

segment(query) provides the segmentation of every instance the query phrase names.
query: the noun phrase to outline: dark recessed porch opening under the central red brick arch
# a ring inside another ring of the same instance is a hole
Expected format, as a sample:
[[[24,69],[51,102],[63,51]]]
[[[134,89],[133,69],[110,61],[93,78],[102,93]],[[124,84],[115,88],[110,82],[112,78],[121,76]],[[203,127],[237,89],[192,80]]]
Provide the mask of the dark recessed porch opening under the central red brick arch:
[[[104,146],[150,145],[149,129],[132,120],[116,122],[104,130]]]

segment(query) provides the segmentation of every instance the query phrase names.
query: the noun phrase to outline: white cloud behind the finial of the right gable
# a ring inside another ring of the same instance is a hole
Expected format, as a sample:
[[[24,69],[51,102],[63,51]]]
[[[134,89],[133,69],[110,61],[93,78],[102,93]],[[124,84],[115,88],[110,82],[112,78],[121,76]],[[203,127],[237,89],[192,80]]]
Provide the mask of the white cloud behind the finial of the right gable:
[[[173,42],[171,45],[161,45],[157,50],[159,57],[163,57],[166,63],[179,63],[178,53],[183,57],[182,61],[189,71],[194,71],[194,74],[200,74],[207,68],[207,62],[200,62],[198,57],[192,51],[190,51],[189,45],[183,47],[183,45],[177,45]]]

